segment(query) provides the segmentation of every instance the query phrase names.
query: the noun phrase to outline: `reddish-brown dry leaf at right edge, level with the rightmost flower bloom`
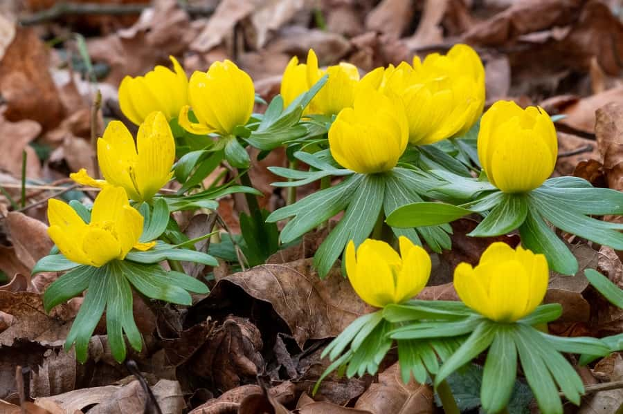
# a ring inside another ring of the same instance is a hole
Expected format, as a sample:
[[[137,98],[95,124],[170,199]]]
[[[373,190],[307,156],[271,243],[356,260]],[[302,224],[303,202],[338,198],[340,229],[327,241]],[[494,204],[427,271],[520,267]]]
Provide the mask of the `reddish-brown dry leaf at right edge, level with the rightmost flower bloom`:
[[[623,94],[623,87],[620,88]],[[623,95],[620,98],[623,102]],[[602,154],[608,187],[623,190],[623,105],[612,102],[597,110],[597,147]]]

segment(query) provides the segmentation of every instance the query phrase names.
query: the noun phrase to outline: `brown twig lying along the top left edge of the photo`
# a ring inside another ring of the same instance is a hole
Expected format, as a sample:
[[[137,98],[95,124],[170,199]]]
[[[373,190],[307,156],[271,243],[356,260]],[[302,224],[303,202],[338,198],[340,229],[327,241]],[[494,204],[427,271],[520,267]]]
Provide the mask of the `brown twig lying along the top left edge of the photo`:
[[[149,4],[137,3],[105,4],[71,3],[61,1],[59,3],[56,3],[51,8],[33,13],[30,16],[20,19],[19,23],[21,23],[22,26],[32,26],[34,24],[45,23],[46,21],[59,19],[60,17],[75,15],[138,15],[143,10],[149,7]],[[179,7],[182,10],[186,10],[186,12],[191,16],[211,15],[215,10],[215,6],[201,7],[180,4]]]

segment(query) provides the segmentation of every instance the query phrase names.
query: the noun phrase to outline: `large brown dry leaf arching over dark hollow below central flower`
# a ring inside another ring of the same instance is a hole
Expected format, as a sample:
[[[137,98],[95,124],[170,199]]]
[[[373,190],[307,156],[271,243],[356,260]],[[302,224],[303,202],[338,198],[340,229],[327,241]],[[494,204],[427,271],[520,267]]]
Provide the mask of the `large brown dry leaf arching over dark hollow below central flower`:
[[[320,280],[311,259],[283,265],[260,265],[221,279],[209,303],[218,303],[228,285],[271,303],[287,323],[300,348],[308,339],[336,337],[356,317],[370,311],[356,296],[339,267]]]

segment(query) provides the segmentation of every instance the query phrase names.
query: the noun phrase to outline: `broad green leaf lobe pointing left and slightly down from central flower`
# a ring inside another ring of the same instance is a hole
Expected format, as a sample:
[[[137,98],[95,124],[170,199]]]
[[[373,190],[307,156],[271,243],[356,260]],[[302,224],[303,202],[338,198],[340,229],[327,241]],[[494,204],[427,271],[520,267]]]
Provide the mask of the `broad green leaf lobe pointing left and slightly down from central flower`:
[[[363,176],[360,174],[348,177],[334,187],[317,191],[303,200],[273,211],[266,220],[274,223],[294,216],[283,227],[280,235],[283,243],[294,241],[343,210],[350,203],[352,194],[362,180]]]

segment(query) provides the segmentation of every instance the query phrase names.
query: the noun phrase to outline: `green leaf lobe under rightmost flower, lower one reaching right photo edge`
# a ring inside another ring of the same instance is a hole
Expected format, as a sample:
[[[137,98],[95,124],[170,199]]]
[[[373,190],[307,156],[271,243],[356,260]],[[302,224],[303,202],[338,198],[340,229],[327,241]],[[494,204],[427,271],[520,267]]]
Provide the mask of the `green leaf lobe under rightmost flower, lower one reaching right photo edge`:
[[[623,234],[616,231],[623,229],[622,224],[595,220],[569,207],[551,205],[539,193],[530,194],[530,198],[543,218],[559,229],[615,250],[623,250]]]

